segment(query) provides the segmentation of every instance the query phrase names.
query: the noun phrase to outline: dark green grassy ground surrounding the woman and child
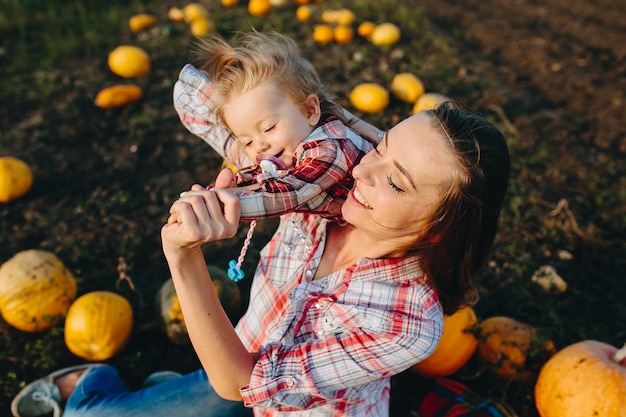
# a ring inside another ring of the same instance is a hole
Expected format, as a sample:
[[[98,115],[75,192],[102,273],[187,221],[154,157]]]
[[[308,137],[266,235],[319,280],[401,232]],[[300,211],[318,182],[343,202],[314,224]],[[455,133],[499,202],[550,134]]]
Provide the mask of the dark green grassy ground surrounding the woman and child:
[[[358,82],[389,85],[394,73],[410,71],[427,90],[442,92],[485,114],[506,133],[513,171],[492,262],[478,277],[479,318],[505,315],[532,324],[558,348],[594,338],[620,346],[626,340],[626,297],[621,283],[625,265],[626,180],[623,163],[605,158],[565,162],[554,141],[530,140],[516,119],[531,107],[506,114],[486,106],[483,94],[503,81],[495,71],[475,73],[476,59],[434,28],[419,8],[395,1],[327,1],[350,7],[358,21],[392,21],[401,42],[378,48],[356,39],[346,46],[315,45],[313,23],[295,20],[295,7],[264,18],[250,17],[242,4],[224,10],[204,2],[228,36],[233,31],[278,30],[292,36],[343,105]],[[181,358],[180,370],[197,366],[188,347],[169,344],[149,328],[152,297],[167,278],[158,230],[170,202],[193,182],[209,182],[219,160],[187,134],[171,105],[171,88],[191,59],[193,39],[184,24],[167,20],[170,6],[185,3],[127,0],[0,0],[0,155],[29,161],[35,186],[24,198],[0,207],[0,260],[31,246],[58,253],[79,280],[79,292],[111,289],[126,295],[137,315],[135,336],[110,363],[137,384],[164,357]],[[128,18],[148,11],[154,29],[133,34]],[[93,106],[100,88],[120,80],[106,57],[116,45],[149,51],[153,68],[138,82],[145,90],[137,105],[102,111]],[[384,113],[363,115],[389,128],[411,114],[411,106],[392,100]],[[569,116],[576,126],[575,116]],[[539,127],[537,127],[539,129]],[[568,202],[555,211],[559,200]],[[258,254],[271,224],[261,225],[252,252]],[[245,236],[246,228],[240,233]],[[255,238],[256,239],[256,238]],[[212,246],[209,259],[237,255],[240,240]],[[574,255],[559,259],[558,251]],[[620,256],[620,254],[622,256]],[[128,265],[137,291],[118,282],[119,258]],[[553,264],[570,284],[565,294],[546,293],[530,282],[542,264]],[[254,256],[246,268],[254,267]],[[619,271],[619,272],[618,272]],[[60,366],[79,362],[63,344],[63,329],[21,334],[0,326],[0,409],[26,381]],[[535,370],[539,364],[534,364]],[[459,375],[485,396],[505,399],[520,417],[534,416],[532,381],[503,382],[468,368]]]

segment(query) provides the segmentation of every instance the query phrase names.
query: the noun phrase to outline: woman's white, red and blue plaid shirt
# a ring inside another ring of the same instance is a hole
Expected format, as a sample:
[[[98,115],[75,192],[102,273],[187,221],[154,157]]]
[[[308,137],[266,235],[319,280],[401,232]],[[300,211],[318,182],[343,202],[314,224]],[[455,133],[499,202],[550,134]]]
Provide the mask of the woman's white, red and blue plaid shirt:
[[[441,336],[441,306],[415,257],[362,258],[311,279],[328,221],[285,215],[261,253],[236,327],[260,353],[240,390],[255,416],[388,416],[390,377]]]

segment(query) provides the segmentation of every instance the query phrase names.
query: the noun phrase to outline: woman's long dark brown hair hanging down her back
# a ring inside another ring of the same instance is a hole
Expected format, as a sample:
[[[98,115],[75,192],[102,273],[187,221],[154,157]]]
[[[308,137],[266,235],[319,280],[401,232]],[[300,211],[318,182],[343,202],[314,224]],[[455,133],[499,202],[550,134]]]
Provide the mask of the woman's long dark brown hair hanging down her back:
[[[510,171],[502,133],[453,103],[429,110],[456,159],[455,180],[429,219],[417,253],[446,314],[473,305],[474,276],[486,263],[498,228]]]

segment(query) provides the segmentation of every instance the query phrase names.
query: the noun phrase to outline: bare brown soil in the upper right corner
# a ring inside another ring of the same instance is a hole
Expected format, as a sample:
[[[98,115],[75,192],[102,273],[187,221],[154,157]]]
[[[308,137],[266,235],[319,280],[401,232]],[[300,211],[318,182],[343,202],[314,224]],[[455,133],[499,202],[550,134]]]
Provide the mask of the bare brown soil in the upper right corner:
[[[626,153],[626,4],[604,0],[421,0],[442,30],[488,54],[584,123],[568,142]]]

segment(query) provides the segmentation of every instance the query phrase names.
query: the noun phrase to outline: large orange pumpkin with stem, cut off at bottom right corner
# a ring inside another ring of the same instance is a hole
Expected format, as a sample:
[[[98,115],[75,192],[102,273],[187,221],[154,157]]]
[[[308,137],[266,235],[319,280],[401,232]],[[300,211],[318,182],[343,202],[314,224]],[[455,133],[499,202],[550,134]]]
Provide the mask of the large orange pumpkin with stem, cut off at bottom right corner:
[[[541,368],[535,405],[541,417],[626,416],[626,345],[583,340]]]

